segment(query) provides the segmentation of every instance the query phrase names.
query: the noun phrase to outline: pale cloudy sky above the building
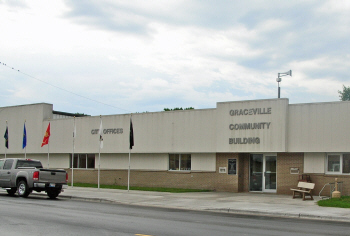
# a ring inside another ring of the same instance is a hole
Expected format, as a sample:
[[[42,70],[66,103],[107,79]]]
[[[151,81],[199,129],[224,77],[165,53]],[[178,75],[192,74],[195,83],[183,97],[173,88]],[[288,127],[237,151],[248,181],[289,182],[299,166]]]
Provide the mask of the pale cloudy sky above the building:
[[[0,0],[0,107],[112,115],[339,101],[347,0]]]

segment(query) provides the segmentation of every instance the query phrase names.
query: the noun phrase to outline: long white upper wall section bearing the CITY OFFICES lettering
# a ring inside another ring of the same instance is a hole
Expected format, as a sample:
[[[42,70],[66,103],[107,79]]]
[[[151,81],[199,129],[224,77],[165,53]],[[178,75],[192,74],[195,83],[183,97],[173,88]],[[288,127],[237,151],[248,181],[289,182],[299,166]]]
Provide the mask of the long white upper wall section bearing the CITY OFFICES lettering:
[[[214,152],[215,120],[214,109],[133,114],[135,146],[131,152]],[[49,121],[44,122],[45,129],[48,123]],[[71,153],[74,119],[50,120],[50,123],[50,152]],[[100,117],[79,117],[75,118],[75,123],[75,152],[98,153],[97,129],[100,127]],[[118,134],[103,134],[101,153],[129,153],[130,115],[102,116],[102,125],[104,130],[123,131]]]

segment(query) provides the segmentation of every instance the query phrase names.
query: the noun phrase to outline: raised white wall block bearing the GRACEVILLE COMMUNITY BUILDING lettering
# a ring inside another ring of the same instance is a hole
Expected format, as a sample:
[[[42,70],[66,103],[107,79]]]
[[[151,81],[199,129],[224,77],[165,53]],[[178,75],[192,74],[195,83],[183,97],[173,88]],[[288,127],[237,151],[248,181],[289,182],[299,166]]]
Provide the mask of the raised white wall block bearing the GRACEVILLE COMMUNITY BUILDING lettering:
[[[288,99],[218,103],[216,151],[285,152],[287,108]],[[232,125],[240,124],[263,125],[259,129],[232,129]],[[244,138],[258,138],[259,143],[230,144],[230,138],[241,141]]]

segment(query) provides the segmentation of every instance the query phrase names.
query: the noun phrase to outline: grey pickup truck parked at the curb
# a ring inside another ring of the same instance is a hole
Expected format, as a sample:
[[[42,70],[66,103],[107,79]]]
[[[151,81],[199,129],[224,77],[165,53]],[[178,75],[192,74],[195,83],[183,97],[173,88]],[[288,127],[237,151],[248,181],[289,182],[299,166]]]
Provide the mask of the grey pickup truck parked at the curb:
[[[9,195],[18,193],[28,197],[32,191],[45,191],[55,199],[67,188],[68,174],[65,170],[44,169],[41,162],[31,159],[0,159],[0,187]]]

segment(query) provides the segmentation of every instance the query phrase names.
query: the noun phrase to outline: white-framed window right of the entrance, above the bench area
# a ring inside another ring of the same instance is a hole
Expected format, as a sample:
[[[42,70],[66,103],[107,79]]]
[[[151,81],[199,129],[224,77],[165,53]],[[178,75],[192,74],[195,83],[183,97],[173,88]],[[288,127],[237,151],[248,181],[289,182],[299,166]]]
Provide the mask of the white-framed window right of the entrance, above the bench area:
[[[329,154],[327,156],[327,172],[350,174],[350,154]]]

